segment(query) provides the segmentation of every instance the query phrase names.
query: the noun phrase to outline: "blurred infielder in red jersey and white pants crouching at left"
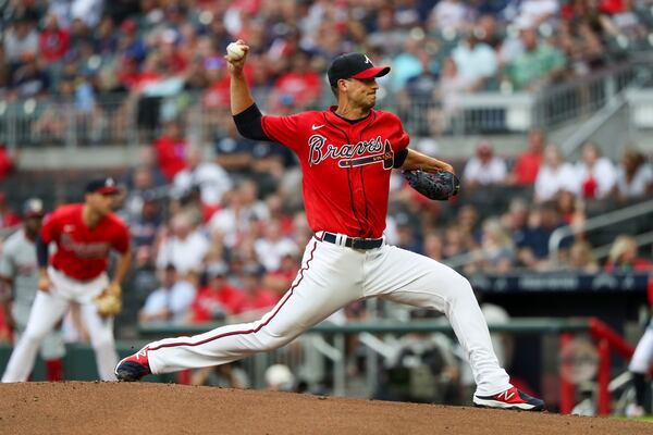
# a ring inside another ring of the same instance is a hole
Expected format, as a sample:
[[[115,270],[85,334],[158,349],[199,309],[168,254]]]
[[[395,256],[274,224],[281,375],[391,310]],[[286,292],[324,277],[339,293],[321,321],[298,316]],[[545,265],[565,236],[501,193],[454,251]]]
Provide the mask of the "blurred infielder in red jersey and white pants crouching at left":
[[[103,293],[121,294],[121,283],[132,261],[127,227],[112,213],[119,192],[113,178],[94,179],[86,186],[83,203],[60,207],[46,217],[36,240],[40,291],[2,382],[27,381],[41,340],[72,302],[81,306],[100,378],[115,380],[113,318],[102,318],[94,300]],[[49,257],[50,244],[57,245],[57,251]],[[119,258],[113,279],[109,281],[111,250],[118,251]]]

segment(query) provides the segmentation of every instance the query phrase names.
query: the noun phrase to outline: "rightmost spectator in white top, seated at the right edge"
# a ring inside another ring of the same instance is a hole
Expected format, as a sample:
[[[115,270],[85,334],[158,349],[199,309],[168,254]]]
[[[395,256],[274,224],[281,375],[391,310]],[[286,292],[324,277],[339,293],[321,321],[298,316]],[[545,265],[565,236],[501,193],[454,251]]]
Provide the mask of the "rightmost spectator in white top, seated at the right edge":
[[[653,194],[653,167],[640,151],[624,151],[614,191],[621,202],[642,199]]]

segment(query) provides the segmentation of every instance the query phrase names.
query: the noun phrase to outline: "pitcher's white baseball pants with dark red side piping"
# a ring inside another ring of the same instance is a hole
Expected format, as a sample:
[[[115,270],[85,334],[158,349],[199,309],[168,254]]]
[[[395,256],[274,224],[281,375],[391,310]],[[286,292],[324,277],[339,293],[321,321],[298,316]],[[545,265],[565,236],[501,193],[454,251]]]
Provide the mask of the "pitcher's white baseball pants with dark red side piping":
[[[355,250],[320,241],[319,237],[308,243],[301,270],[272,311],[256,322],[149,344],[152,373],[219,365],[276,349],[347,303],[381,297],[444,312],[468,357],[477,394],[495,395],[512,386],[498,365],[488,325],[464,276],[397,247]]]

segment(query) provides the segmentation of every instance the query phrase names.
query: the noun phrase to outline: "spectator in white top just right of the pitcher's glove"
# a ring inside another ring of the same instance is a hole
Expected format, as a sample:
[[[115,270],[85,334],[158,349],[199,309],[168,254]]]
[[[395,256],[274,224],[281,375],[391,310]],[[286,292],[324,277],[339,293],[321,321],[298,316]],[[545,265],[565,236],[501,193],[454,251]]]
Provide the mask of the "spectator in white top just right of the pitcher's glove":
[[[463,173],[463,182],[468,188],[502,185],[506,181],[506,162],[494,154],[489,140],[479,140],[476,156],[469,159]]]

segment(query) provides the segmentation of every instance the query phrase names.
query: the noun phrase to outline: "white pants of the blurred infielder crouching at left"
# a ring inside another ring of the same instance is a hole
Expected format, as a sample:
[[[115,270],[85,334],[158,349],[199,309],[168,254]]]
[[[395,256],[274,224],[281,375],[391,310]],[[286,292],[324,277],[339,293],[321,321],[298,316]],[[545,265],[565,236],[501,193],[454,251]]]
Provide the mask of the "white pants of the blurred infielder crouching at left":
[[[113,318],[100,316],[93,302],[93,298],[107,288],[107,274],[89,282],[73,279],[52,268],[48,270],[48,274],[52,281],[52,288],[49,293],[37,293],[27,328],[11,353],[2,382],[27,381],[41,341],[65,314],[72,301],[78,302],[82,308],[100,378],[115,381],[113,369],[118,363],[118,353],[113,339]]]

